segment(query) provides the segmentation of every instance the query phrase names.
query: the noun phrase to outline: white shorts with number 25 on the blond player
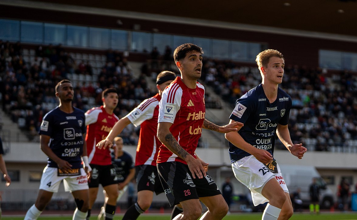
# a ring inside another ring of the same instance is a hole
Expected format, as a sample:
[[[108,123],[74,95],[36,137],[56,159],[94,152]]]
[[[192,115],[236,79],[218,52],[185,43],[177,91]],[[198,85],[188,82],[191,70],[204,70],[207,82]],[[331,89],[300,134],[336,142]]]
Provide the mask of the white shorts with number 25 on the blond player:
[[[265,184],[273,178],[278,181],[281,188],[283,188],[286,193],[289,193],[284,178],[281,175],[279,165],[276,164],[276,167],[277,173],[270,172],[269,169],[253,155],[244,157],[232,163],[234,175],[237,180],[250,189],[253,204],[255,206],[269,201],[261,194],[261,192]]]

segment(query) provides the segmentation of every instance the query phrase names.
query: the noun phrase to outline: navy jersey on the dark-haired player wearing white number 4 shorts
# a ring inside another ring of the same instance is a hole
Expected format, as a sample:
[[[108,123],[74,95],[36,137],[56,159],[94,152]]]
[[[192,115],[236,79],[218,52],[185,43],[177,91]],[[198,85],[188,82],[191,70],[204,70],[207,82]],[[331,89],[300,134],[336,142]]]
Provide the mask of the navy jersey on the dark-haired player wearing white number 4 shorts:
[[[62,160],[68,161],[73,168],[81,168],[83,153],[83,134],[86,133],[84,112],[73,107],[72,113],[66,113],[57,106],[42,119],[39,134],[51,137],[49,147]],[[49,167],[57,164],[48,158]]]

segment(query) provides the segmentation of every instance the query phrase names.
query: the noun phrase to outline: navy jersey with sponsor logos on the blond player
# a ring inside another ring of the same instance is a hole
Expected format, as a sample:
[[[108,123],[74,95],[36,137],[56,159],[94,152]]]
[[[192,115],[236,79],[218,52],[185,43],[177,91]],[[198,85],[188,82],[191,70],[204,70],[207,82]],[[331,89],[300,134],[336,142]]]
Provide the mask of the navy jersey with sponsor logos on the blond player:
[[[260,84],[237,100],[229,118],[244,123],[238,133],[247,143],[273,155],[277,125],[288,124],[290,109],[291,97],[285,91],[278,88],[276,100],[270,103]],[[231,163],[251,155],[232,143],[229,153]]]

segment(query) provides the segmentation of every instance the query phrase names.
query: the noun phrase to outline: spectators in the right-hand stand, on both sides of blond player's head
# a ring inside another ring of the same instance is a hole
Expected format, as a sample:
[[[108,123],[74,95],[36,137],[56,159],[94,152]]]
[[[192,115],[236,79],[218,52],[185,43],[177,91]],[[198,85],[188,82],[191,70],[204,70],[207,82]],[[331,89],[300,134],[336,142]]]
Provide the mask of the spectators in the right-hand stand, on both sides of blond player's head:
[[[204,60],[202,72],[202,80],[232,106],[261,83],[255,65],[242,67],[234,62],[208,59]],[[289,121],[292,140],[318,151],[329,151],[330,146],[357,148],[356,86],[357,77],[349,71],[329,75],[321,68],[285,66],[280,87],[292,97]]]

